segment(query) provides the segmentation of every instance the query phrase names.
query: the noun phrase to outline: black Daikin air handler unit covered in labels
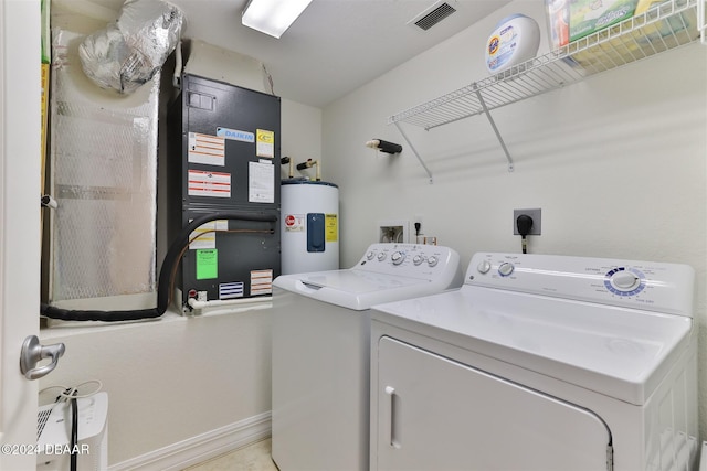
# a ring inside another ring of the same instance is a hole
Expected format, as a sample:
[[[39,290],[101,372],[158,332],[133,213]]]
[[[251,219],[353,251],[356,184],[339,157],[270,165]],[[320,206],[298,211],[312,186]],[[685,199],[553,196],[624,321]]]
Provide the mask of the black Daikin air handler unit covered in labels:
[[[279,97],[182,76],[168,114],[168,238],[209,213],[273,220],[220,220],[194,231],[176,274],[182,306],[272,295],[281,272],[279,120]]]

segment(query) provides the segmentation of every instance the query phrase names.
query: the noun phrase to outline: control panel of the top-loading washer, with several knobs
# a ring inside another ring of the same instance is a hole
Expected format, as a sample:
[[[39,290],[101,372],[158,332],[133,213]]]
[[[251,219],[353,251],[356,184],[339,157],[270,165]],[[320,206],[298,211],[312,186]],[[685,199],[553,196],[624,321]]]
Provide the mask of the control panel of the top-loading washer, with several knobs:
[[[420,244],[373,244],[352,268],[357,270],[432,278],[460,271],[458,254],[444,246]]]

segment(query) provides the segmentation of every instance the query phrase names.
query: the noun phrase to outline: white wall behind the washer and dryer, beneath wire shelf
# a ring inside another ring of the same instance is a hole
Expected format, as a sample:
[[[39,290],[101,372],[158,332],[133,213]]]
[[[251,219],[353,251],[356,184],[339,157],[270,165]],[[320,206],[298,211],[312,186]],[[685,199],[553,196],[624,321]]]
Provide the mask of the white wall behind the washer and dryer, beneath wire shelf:
[[[695,315],[707,327],[707,54],[693,44],[494,111],[516,161],[483,116],[424,131],[402,124],[418,163],[388,116],[487,76],[483,47],[496,22],[542,3],[516,1],[324,110],[324,152],[341,201],[341,266],[351,266],[380,220],[422,218],[422,232],[458,250],[519,251],[513,210],[542,210],[540,254],[692,265]],[[545,33],[544,29],[541,29]],[[541,51],[547,52],[545,39]],[[376,154],[363,142],[403,146]],[[707,332],[707,329],[703,329]],[[707,345],[703,333],[701,344]],[[700,430],[707,435],[707,346],[700,347]]]

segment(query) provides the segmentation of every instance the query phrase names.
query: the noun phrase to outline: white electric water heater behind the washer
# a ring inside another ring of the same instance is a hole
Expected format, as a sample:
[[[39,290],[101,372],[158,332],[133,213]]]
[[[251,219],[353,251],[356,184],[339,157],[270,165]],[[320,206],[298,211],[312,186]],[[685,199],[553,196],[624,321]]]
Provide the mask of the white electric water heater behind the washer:
[[[281,189],[282,274],[339,269],[339,188],[285,180]]]

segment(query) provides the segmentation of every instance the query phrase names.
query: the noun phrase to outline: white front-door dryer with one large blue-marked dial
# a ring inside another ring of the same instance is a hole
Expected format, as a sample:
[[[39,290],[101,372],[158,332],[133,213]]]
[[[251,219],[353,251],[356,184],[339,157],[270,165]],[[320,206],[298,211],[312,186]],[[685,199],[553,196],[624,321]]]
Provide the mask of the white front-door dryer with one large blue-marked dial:
[[[694,470],[694,272],[476,254],[371,313],[371,470]]]

